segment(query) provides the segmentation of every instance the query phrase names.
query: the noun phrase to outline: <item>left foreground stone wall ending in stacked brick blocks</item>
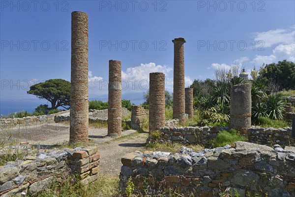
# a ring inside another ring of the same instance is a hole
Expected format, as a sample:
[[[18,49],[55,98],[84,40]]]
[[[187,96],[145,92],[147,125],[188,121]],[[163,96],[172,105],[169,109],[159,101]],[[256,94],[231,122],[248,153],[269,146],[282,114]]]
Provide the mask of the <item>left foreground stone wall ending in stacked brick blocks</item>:
[[[29,147],[22,147],[23,149]],[[87,185],[98,178],[100,155],[98,147],[86,147],[39,152],[18,162],[0,166],[0,196],[21,196],[22,192],[34,194],[51,184],[77,174]]]

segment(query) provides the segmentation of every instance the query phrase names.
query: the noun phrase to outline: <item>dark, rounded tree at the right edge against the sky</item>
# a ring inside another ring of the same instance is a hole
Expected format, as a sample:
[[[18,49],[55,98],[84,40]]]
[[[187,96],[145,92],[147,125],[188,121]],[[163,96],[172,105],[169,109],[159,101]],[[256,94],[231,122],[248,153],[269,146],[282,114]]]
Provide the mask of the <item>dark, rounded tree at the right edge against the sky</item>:
[[[257,79],[266,83],[279,84],[279,90],[295,90],[295,63],[284,60],[277,64],[262,66]]]

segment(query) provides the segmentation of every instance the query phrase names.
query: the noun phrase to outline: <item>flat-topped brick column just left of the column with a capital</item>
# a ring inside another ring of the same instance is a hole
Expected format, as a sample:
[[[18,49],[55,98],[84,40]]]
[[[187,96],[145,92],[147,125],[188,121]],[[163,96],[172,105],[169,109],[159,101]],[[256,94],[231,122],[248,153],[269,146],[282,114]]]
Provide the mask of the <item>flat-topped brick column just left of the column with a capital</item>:
[[[165,74],[149,73],[148,137],[165,126]]]

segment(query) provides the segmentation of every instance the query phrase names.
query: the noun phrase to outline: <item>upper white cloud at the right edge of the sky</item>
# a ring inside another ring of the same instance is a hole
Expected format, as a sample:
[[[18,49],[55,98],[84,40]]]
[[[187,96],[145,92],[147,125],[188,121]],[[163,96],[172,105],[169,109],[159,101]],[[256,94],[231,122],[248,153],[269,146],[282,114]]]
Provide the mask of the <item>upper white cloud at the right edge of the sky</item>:
[[[263,47],[271,47],[275,44],[290,44],[295,41],[295,26],[290,29],[276,29],[269,30],[267,32],[256,32],[253,33],[255,41],[263,41]]]

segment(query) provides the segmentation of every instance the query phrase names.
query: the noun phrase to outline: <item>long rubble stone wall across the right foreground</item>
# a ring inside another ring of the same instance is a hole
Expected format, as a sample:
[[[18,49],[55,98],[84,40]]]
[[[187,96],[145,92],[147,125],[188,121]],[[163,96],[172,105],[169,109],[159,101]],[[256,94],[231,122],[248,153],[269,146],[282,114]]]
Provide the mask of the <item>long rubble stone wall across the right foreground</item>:
[[[240,197],[247,194],[295,197],[295,147],[268,147],[236,142],[235,147],[194,152],[183,147],[179,153],[133,152],[121,159],[119,189],[124,192],[131,177],[136,191],[189,197]]]

